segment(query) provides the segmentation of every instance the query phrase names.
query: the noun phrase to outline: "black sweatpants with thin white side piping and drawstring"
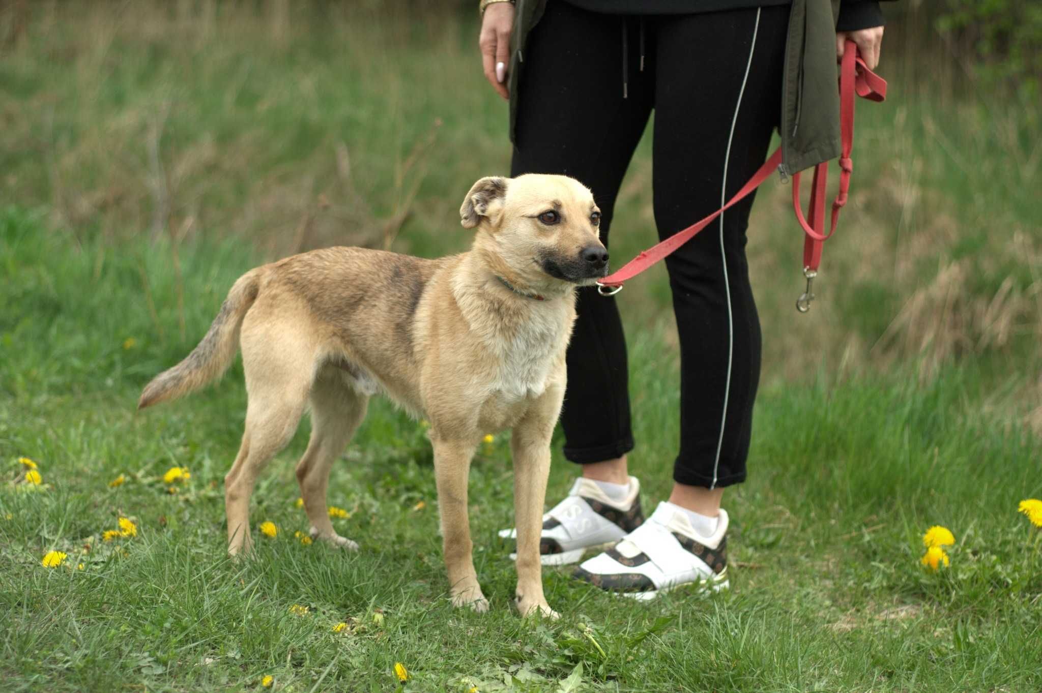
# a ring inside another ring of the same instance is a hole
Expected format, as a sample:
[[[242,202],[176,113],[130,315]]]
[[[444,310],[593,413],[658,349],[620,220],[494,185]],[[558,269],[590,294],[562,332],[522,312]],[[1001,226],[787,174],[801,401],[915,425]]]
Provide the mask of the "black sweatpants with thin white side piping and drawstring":
[[[766,158],[779,120],[788,18],[786,6],[642,18],[550,0],[524,50],[512,175],[580,180],[600,206],[607,245],[623,174],[653,108],[659,236],[693,224]],[[745,259],[752,200],[666,260],[680,342],[673,479],[681,484],[745,480],[761,348]],[[627,259],[613,256],[612,266]],[[632,450],[627,388],[616,300],[584,288],[562,413],[566,458],[599,462]]]

